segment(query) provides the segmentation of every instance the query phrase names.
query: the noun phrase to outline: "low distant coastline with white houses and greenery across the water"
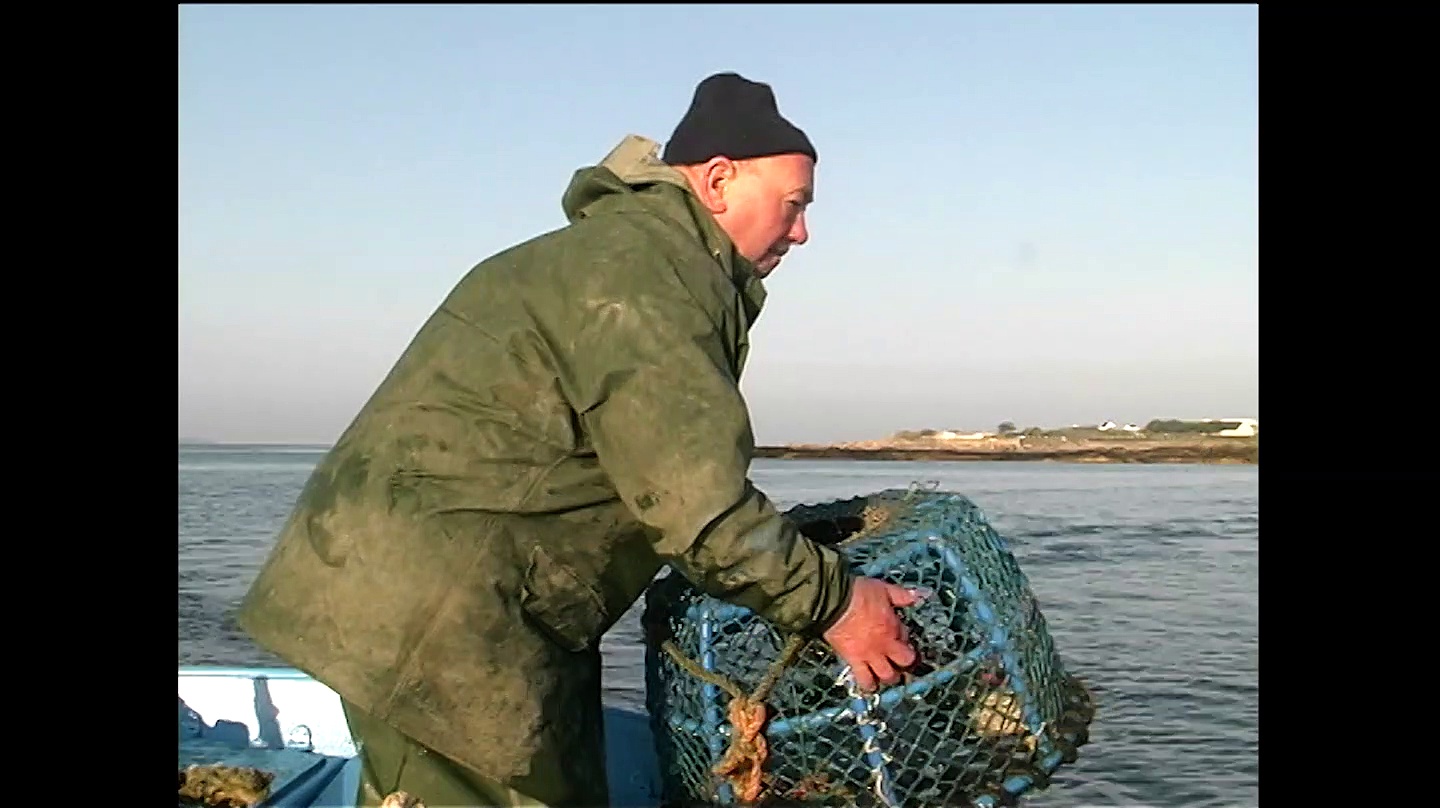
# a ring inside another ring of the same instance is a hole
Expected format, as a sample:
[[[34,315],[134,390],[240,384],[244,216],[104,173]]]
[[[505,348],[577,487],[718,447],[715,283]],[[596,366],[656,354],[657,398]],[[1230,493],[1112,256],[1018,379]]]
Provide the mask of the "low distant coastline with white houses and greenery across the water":
[[[757,458],[886,461],[1050,461],[1259,465],[1257,422],[1152,421],[995,432],[922,429],[878,441],[757,446]]]

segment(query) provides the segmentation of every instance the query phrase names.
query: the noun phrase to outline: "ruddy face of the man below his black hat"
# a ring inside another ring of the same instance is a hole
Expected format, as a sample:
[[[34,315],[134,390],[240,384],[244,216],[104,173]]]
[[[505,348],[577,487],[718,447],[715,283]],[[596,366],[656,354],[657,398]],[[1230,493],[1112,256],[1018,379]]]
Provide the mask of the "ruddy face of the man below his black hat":
[[[809,241],[805,212],[815,200],[815,161],[804,154],[757,157],[734,166],[719,187],[716,220],[765,278],[795,245]]]

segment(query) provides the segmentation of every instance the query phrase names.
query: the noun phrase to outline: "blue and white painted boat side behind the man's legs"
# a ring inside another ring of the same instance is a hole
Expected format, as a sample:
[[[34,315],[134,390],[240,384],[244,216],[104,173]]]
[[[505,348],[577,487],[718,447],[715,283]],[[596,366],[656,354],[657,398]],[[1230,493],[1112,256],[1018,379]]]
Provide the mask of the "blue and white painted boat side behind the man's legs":
[[[253,766],[275,781],[255,808],[354,808],[360,758],[340,697],[295,668],[180,665],[180,768]],[[649,716],[605,706],[613,808],[658,808]]]

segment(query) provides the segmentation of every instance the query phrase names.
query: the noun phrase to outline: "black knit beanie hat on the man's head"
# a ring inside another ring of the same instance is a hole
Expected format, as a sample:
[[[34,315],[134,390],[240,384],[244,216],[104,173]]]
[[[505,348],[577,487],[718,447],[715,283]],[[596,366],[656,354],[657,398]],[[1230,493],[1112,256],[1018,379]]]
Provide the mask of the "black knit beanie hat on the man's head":
[[[749,160],[772,154],[808,154],[819,161],[805,133],[780,115],[770,85],[716,73],[696,86],[661,160],[694,166],[719,156]]]

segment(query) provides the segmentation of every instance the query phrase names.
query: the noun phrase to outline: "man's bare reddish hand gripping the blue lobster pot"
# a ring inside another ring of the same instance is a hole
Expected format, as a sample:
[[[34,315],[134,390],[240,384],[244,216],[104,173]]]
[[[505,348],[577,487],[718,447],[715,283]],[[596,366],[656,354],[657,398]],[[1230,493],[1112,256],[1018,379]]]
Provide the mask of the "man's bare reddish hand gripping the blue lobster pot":
[[[914,664],[914,647],[896,606],[912,606],[923,599],[920,592],[874,578],[857,578],[850,591],[850,605],[825,632],[825,642],[850,665],[855,684],[864,691],[900,681],[896,668]]]

